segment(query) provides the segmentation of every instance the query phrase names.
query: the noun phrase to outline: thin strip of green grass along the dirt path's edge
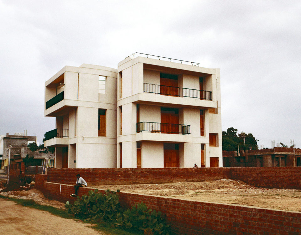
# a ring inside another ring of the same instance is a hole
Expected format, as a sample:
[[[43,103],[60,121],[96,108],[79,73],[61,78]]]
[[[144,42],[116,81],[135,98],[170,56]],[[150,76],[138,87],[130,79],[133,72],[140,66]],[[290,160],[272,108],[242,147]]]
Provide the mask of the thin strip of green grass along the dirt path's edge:
[[[65,219],[76,219],[71,214],[68,214],[65,209],[58,209],[53,206],[40,205],[39,203],[36,203],[32,199],[30,199],[30,200],[17,199],[17,198],[2,196],[2,195],[0,195],[0,198],[12,200],[12,201],[16,202],[18,205],[27,206],[27,207],[37,209],[40,211],[47,211],[55,216],[59,216],[59,217],[65,218]],[[92,222],[85,222],[85,221],[82,221],[82,222],[92,223]],[[106,224],[106,223],[95,224],[95,226],[91,226],[91,227],[96,230],[99,230],[99,231],[110,233],[112,235],[139,235],[139,234],[142,234],[142,233],[127,232],[120,228],[111,227],[110,224]]]

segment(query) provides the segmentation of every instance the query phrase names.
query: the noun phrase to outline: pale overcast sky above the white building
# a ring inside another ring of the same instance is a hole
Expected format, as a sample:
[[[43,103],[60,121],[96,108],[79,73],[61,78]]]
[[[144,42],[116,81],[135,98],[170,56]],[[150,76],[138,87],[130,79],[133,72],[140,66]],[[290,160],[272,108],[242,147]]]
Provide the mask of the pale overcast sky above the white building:
[[[134,52],[220,68],[222,130],[301,148],[301,1],[0,0],[0,134],[42,143],[44,83]]]

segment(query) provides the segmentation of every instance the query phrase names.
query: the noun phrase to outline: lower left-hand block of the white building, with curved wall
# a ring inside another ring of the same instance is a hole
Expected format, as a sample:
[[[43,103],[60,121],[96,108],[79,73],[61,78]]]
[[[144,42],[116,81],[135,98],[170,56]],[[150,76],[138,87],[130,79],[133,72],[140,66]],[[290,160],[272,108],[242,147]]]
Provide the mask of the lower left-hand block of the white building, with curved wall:
[[[46,147],[55,167],[117,166],[117,70],[99,65],[65,66],[45,82],[44,116],[55,117]]]

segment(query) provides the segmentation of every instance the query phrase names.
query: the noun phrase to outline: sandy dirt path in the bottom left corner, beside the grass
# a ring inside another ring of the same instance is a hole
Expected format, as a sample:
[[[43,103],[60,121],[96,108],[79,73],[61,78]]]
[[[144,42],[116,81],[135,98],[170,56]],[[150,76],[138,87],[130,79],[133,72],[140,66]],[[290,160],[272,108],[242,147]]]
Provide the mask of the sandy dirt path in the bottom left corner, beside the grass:
[[[90,228],[91,224],[73,219],[64,219],[49,212],[15,204],[13,201],[0,199],[1,234],[6,235],[106,235]]]

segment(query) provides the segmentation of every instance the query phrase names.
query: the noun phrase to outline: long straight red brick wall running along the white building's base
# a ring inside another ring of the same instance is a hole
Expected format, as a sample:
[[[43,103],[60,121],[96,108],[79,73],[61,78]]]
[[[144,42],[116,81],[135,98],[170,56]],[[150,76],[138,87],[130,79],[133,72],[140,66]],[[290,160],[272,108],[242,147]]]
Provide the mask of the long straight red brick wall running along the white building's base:
[[[49,168],[47,181],[72,184],[80,174],[88,186],[194,182],[229,178],[229,168]]]

